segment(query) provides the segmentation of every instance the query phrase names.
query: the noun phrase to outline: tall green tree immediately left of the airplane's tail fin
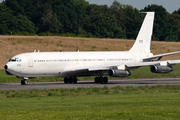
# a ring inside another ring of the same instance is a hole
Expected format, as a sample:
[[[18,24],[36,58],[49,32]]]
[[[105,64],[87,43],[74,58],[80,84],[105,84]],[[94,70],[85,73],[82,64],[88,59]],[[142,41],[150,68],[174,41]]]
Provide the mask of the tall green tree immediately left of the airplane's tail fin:
[[[126,31],[128,39],[135,39],[142,24],[143,15],[139,14],[137,8],[131,5],[124,5],[115,0],[110,7],[118,20],[118,26]]]

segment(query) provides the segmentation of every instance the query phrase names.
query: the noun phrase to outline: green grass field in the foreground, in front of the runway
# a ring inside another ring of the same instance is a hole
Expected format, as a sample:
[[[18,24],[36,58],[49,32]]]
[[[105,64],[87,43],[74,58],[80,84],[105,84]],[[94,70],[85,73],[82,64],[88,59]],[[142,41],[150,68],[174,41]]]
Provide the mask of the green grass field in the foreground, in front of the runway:
[[[180,86],[0,91],[0,118],[178,120]]]

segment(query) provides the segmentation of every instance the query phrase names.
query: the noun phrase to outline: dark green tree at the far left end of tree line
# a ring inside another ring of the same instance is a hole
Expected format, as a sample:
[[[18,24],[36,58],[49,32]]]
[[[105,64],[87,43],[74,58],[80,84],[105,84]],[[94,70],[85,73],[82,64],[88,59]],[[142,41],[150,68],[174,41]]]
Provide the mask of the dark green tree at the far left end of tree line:
[[[4,4],[0,4],[0,21],[0,34],[35,32],[34,24],[26,16],[13,15],[13,11]]]

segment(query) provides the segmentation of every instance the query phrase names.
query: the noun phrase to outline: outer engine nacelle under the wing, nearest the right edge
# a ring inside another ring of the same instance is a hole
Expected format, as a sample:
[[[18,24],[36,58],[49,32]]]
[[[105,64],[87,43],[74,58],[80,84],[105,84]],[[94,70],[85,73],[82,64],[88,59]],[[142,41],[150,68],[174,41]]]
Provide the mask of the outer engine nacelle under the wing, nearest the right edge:
[[[154,66],[151,66],[150,70],[152,73],[170,73],[174,69],[172,67],[169,67],[169,66],[154,65]]]

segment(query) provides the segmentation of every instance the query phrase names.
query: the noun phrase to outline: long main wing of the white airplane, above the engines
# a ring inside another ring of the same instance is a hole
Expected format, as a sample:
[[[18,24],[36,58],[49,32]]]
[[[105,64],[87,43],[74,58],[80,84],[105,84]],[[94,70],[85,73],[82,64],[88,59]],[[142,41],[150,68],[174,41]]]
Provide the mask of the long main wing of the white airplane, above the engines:
[[[139,67],[143,66],[153,66],[153,65],[161,65],[161,66],[173,66],[175,64],[180,64],[180,60],[169,60],[169,61],[152,61],[152,62],[137,62],[137,63],[125,63],[125,64],[113,64],[113,65],[100,65],[100,66],[82,66],[82,67],[73,67],[68,66],[61,74],[63,75],[72,75],[72,76],[83,76],[85,75],[97,75],[97,73],[102,73],[103,75],[107,75],[109,70],[112,68],[119,70],[135,70]],[[121,69],[122,67],[124,69]]]

